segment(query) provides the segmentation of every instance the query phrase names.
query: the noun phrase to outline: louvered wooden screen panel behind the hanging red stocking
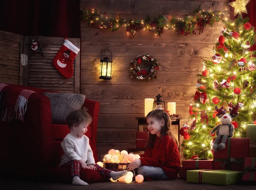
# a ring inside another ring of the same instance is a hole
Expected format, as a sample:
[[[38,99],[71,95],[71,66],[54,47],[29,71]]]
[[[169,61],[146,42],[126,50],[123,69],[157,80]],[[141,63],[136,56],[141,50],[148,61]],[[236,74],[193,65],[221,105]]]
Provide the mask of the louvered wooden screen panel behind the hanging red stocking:
[[[24,43],[31,44],[33,39],[37,40],[38,37],[27,36]],[[64,38],[40,36],[39,39],[45,45],[44,57],[38,53],[29,56],[28,66],[24,66],[24,71],[26,71],[26,73],[24,72],[24,85],[57,92],[79,93],[80,52],[73,62],[74,75],[67,79],[52,65],[52,59],[63,45]],[[69,38],[68,40],[80,47],[80,39]]]

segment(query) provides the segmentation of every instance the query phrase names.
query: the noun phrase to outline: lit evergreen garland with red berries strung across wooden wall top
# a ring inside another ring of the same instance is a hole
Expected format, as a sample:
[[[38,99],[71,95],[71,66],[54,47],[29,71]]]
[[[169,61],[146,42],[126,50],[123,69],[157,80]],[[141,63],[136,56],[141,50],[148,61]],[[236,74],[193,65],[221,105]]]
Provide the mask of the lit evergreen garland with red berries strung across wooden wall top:
[[[111,32],[117,31],[121,26],[126,27],[126,31],[131,33],[131,38],[133,38],[137,32],[140,30],[153,32],[156,36],[161,37],[164,29],[175,29],[175,32],[181,35],[195,34],[195,25],[199,26],[199,34],[204,32],[204,27],[209,24],[213,26],[214,22],[218,22],[227,14],[227,11],[204,11],[199,6],[193,12],[195,17],[186,15],[184,19],[176,18],[172,15],[172,18],[168,20],[163,15],[158,15],[158,17],[150,18],[147,16],[143,20],[138,19],[123,19],[111,18],[107,12],[99,13],[95,9],[91,12],[89,10],[80,10],[80,19],[87,21],[87,26],[101,28],[105,30],[110,30]]]

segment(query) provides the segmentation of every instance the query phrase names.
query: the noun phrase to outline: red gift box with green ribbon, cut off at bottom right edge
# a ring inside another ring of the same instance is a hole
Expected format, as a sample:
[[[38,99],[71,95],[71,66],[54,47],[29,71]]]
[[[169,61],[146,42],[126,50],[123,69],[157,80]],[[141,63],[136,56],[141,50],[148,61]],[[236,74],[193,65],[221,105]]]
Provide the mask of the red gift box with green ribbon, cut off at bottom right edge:
[[[256,158],[245,158],[242,181],[256,181]]]

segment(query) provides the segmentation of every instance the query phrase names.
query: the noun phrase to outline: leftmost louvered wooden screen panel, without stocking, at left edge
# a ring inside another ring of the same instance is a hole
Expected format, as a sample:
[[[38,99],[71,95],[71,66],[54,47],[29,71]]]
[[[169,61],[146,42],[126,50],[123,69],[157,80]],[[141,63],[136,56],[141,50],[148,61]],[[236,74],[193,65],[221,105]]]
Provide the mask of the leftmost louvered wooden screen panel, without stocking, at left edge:
[[[21,35],[0,31],[0,83],[20,84]]]

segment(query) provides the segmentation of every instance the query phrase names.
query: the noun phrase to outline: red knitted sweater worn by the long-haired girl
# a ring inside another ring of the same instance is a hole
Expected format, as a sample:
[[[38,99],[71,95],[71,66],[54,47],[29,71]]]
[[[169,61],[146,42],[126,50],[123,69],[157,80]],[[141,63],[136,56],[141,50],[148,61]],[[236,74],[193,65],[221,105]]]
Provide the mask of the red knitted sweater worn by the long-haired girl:
[[[180,167],[180,153],[174,139],[169,135],[157,137],[154,148],[140,155],[142,166],[161,167],[169,179],[176,179]]]

